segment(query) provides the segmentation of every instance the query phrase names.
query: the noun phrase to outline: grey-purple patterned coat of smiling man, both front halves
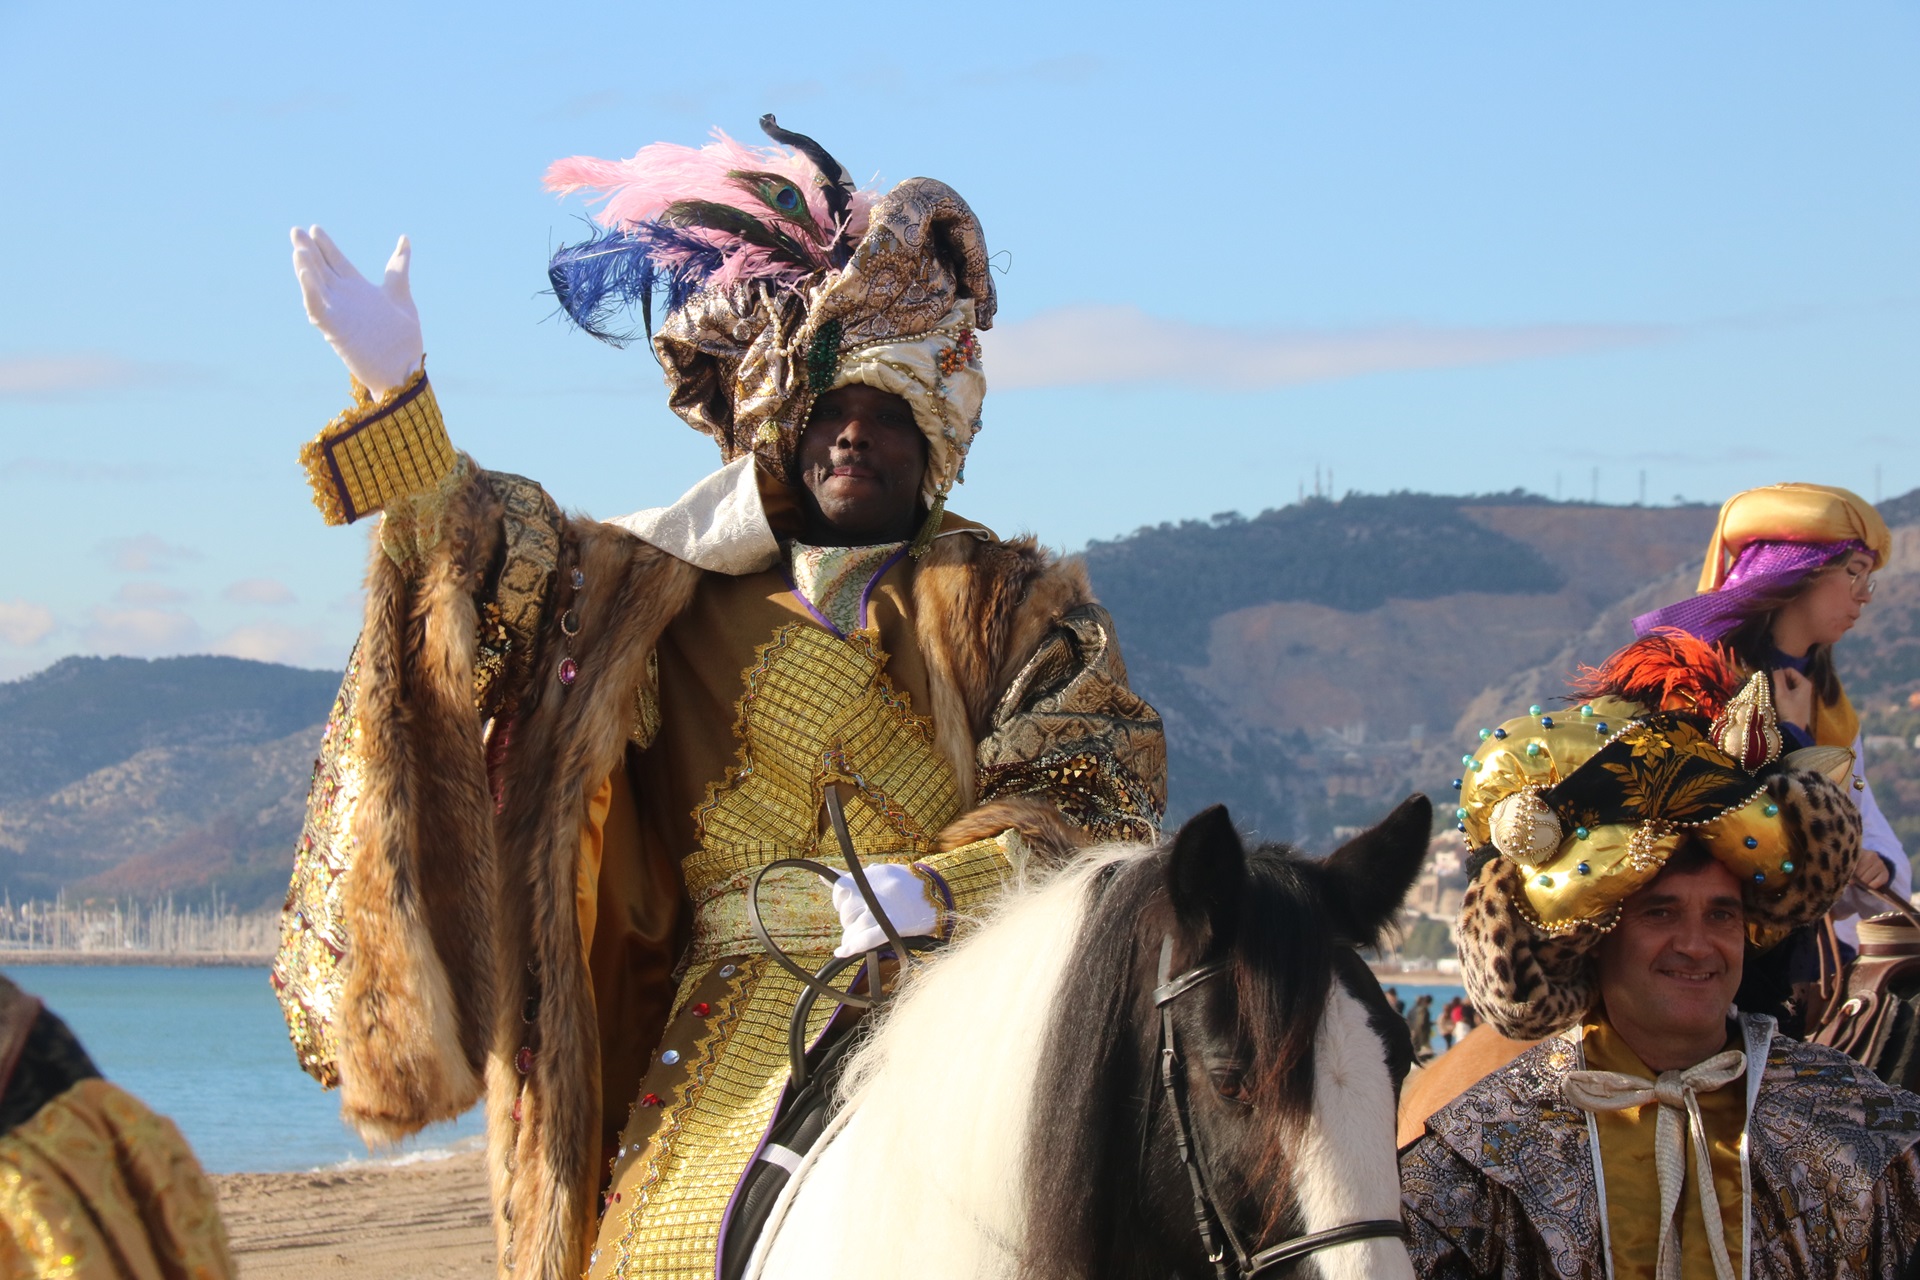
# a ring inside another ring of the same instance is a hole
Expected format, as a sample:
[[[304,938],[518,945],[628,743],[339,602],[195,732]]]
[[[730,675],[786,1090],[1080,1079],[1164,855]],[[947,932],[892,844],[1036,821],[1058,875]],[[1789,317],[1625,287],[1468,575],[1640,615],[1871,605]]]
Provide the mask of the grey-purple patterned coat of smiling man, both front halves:
[[[1751,1019],[1749,1019],[1751,1025]],[[1555,1036],[1427,1121],[1400,1159],[1423,1278],[1605,1276],[1588,1119]],[[1920,1261],[1920,1098],[1774,1036],[1747,1121],[1751,1276],[1903,1276]]]

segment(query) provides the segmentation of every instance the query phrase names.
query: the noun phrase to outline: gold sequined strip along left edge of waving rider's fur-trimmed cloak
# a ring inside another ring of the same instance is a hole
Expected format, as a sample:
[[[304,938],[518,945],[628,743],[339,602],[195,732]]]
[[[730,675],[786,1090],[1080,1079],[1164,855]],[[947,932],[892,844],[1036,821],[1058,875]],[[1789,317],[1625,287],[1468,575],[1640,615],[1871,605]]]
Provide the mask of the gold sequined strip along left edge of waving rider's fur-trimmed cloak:
[[[348,658],[346,679],[326,714],[321,758],[313,762],[307,819],[294,846],[294,879],[280,908],[280,948],[273,958],[273,990],[301,1069],[324,1088],[340,1084],[340,1046],[334,1006],[340,998],[340,960],[348,954],[340,913],[344,875],[353,865],[353,810],[365,773],[359,756],[359,651]]]

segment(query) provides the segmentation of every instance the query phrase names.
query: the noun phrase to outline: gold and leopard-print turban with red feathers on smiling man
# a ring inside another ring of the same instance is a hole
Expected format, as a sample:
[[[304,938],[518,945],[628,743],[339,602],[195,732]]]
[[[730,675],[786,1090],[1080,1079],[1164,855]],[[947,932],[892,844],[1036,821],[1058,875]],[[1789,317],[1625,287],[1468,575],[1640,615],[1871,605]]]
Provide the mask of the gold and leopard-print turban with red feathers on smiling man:
[[[1588,670],[1563,712],[1482,731],[1455,818],[1476,871],[1461,904],[1467,994],[1501,1032],[1553,1034],[1592,1004],[1590,952],[1686,842],[1741,883],[1747,940],[1780,942],[1839,896],[1860,814],[1853,752],[1782,756],[1768,676],[1657,631]]]

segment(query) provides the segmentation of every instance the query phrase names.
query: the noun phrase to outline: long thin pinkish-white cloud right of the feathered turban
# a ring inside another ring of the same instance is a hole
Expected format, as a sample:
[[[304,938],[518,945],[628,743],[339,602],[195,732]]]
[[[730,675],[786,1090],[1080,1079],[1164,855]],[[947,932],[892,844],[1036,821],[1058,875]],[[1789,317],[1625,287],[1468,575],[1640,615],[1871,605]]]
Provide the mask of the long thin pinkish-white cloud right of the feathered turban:
[[[987,380],[1000,390],[1129,382],[1227,390],[1603,351],[1668,334],[1653,324],[1260,330],[1167,320],[1139,307],[1060,307],[981,342]]]

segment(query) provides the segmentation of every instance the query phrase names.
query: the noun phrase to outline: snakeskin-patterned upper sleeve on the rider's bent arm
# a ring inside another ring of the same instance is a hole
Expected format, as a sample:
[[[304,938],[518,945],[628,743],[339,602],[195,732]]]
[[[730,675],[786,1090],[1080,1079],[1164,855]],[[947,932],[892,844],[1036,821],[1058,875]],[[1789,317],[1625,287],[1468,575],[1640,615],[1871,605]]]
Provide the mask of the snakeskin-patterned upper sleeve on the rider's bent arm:
[[[1020,668],[981,739],[979,798],[1039,794],[1100,841],[1152,841],[1165,816],[1167,739],[1127,689],[1114,620],[1083,604]]]

